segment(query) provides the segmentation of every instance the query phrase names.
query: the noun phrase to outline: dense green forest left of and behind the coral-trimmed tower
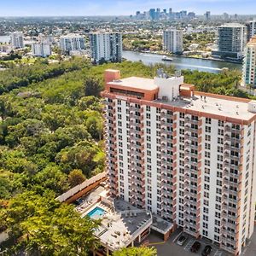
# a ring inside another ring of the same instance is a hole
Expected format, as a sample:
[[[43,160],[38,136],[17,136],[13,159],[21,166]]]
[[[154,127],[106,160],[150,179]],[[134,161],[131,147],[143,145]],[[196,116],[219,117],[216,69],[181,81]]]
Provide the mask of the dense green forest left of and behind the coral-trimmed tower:
[[[80,248],[96,245],[90,236],[96,224],[84,218],[84,227],[79,225],[73,207],[54,199],[104,169],[104,70],[153,78],[159,67],[131,61],[92,66],[73,58],[0,72],[0,231],[10,230],[15,244],[7,254],[23,249],[28,255],[86,255]],[[165,68],[174,72],[173,67]],[[240,74],[235,71],[183,75],[198,90],[247,97],[236,89]]]

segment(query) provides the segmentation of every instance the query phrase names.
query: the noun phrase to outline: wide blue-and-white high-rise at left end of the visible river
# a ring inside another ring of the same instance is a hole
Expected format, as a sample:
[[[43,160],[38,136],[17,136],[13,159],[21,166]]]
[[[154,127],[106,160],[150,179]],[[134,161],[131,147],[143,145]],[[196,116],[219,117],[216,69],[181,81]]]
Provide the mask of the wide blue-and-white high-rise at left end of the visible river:
[[[119,32],[90,33],[91,58],[100,61],[122,61],[122,34]]]

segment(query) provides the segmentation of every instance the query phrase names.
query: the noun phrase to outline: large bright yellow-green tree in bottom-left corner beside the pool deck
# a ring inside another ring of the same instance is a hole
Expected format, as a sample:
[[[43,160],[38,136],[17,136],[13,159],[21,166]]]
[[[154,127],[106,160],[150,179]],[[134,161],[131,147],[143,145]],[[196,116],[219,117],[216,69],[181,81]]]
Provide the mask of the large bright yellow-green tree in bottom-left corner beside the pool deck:
[[[44,195],[17,195],[1,210],[0,223],[8,228],[15,244],[8,255],[85,256],[97,246],[96,222],[81,218],[73,206],[55,201],[55,194],[47,191]]]

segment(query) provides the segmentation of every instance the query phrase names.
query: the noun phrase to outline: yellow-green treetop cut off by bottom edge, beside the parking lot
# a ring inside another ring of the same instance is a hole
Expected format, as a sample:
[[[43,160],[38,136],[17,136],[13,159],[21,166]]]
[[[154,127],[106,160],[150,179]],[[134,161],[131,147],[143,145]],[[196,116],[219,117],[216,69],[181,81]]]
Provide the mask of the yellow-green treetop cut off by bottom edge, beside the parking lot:
[[[154,247],[126,247],[113,253],[113,256],[156,256]]]

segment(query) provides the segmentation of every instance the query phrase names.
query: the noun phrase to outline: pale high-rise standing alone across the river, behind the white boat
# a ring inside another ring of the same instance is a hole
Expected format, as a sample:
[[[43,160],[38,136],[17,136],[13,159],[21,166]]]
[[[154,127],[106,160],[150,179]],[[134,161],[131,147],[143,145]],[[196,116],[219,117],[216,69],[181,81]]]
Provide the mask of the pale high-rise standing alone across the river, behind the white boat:
[[[172,53],[182,53],[183,32],[175,28],[164,31],[163,49]]]

